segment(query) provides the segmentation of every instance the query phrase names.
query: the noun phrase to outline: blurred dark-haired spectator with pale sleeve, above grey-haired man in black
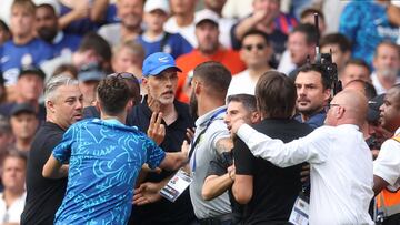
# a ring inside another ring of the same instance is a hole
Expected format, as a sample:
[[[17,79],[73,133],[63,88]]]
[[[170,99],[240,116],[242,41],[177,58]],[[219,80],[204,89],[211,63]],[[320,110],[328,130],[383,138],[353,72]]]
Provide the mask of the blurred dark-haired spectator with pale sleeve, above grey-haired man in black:
[[[106,72],[111,71],[111,48],[110,44],[94,32],[87,33],[78,51],[72,54],[63,54],[52,60],[42,63],[41,68],[48,76],[61,64],[72,64],[80,70],[82,65],[89,63],[98,63],[98,65]]]

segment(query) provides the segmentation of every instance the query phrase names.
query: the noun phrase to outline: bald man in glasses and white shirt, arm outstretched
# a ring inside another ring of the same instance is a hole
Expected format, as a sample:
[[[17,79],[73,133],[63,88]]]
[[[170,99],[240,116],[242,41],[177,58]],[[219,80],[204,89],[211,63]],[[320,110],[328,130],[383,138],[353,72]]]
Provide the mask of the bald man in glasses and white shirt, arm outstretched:
[[[309,224],[373,224],[368,214],[373,196],[372,156],[360,132],[367,99],[359,91],[344,90],[328,106],[326,125],[287,144],[242,121],[232,125],[232,132],[254,156],[279,167],[310,163]]]

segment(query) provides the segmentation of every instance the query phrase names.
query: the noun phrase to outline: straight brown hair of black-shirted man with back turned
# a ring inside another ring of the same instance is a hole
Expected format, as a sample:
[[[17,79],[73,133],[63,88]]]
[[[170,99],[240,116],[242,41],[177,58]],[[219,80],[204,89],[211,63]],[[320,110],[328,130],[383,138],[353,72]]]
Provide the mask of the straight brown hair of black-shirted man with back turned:
[[[270,119],[293,115],[297,91],[293,81],[278,71],[268,71],[257,82],[256,99],[259,111]]]

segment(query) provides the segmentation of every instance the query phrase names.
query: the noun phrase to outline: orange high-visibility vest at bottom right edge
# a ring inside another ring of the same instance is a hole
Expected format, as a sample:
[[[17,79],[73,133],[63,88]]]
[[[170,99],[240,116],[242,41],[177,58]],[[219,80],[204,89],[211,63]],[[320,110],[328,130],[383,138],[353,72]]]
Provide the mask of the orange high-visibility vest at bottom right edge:
[[[392,137],[400,143],[400,134]],[[400,150],[399,150],[400,151]],[[399,174],[400,175],[400,174]],[[388,217],[400,213],[400,190],[392,192],[382,190],[376,197],[378,215]]]

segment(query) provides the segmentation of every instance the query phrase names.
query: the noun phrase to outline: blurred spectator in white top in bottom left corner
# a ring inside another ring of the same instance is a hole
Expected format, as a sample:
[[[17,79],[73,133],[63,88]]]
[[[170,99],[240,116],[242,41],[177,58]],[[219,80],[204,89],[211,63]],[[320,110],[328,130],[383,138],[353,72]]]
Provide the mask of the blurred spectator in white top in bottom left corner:
[[[24,181],[27,176],[27,156],[18,151],[8,153],[2,161],[1,172],[4,190],[0,193],[0,223],[20,224],[27,192]]]

